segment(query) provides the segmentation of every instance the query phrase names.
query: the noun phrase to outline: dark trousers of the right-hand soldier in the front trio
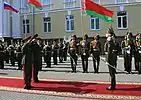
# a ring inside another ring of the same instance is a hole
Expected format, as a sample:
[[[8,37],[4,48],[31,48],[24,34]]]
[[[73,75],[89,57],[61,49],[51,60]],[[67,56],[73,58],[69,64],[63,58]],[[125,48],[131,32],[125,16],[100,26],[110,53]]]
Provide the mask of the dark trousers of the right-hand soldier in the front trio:
[[[93,67],[95,73],[98,73],[99,63],[100,63],[100,55],[98,56],[93,55]]]

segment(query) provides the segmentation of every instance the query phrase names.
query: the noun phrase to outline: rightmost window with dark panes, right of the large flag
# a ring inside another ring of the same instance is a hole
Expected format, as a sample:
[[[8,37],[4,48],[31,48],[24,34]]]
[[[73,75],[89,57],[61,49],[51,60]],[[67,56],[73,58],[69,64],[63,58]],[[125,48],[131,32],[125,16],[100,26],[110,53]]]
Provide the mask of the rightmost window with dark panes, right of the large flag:
[[[118,29],[127,29],[128,28],[126,11],[117,12],[117,27]]]

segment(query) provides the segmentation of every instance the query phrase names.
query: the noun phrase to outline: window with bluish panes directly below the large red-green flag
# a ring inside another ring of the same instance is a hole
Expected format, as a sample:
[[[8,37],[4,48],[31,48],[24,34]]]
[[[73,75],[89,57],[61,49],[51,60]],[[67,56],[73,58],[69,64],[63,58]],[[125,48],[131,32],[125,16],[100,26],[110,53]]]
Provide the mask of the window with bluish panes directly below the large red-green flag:
[[[91,16],[90,28],[91,28],[91,30],[99,30],[100,29],[99,18]]]

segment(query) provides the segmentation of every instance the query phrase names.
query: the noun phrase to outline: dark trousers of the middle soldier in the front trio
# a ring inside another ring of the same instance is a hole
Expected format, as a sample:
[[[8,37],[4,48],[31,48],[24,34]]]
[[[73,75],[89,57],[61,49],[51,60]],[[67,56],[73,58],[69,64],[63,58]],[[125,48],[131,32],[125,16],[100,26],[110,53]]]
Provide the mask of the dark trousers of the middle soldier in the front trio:
[[[83,67],[83,73],[88,72],[88,56],[81,55],[82,59],[82,67]]]

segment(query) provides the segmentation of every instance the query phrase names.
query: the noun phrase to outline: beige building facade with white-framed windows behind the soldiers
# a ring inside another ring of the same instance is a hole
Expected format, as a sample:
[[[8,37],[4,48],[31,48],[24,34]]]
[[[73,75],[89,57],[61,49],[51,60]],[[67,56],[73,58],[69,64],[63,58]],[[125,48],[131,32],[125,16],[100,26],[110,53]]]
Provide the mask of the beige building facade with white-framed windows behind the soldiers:
[[[7,0],[8,1],[8,0]],[[20,13],[9,13],[9,35],[26,37],[39,34],[43,39],[63,38],[76,34],[82,37],[95,33],[104,37],[110,24],[103,20],[85,16],[81,13],[80,0],[39,0],[43,10],[27,6],[27,0],[9,0]],[[93,0],[114,11],[112,26],[117,36],[124,36],[128,31],[136,34],[141,31],[140,0]]]

